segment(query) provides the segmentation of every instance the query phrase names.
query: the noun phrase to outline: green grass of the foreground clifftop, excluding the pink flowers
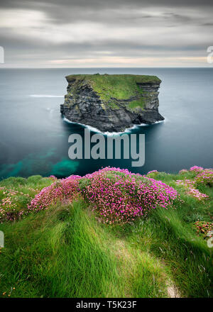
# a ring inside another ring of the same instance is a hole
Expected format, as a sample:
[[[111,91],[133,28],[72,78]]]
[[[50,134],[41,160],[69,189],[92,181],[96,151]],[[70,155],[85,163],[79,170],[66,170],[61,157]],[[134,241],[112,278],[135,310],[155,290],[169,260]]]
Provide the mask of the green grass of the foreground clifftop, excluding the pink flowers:
[[[204,231],[212,223],[213,188],[200,184],[208,198],[197,199],[177,184],[196,175],[148,174],[176,189],[180,199],[130,223],[103,223],[82,196],[4,221],[0,296],[212,297],[212,248]],[[6,179],[1,201],[13,189],[22,207],[52,183],[40,176]]]

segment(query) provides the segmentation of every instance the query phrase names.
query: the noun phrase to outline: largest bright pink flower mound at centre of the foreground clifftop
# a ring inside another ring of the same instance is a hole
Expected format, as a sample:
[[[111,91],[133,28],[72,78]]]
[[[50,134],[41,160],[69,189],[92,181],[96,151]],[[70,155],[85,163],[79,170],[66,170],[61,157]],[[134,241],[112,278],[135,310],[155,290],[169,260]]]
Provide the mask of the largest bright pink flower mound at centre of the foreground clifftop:
[[[106,167],[87,174],[84,196],[106,223],[127,223],[152,209],[168,208],[177,198],[173,187],[127,169]]]

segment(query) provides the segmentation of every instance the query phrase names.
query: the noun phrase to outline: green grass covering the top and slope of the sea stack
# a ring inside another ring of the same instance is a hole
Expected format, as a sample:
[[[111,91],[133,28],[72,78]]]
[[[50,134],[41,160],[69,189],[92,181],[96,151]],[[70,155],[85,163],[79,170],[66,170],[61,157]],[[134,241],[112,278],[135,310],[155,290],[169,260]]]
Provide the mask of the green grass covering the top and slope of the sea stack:
[[[71,74],[66,78],[68,82],[75,79],[76,84],[89,82],[100,98],[114,108],[116,108],[114,99],[121,100],[129,99],[131,96],[141,96],[143,100],[143,89],[138,86],[138,83],[160,82],[156,76],[135,74]],[[144,101],[138,100],[133,107],[137,106],[143,108]]]

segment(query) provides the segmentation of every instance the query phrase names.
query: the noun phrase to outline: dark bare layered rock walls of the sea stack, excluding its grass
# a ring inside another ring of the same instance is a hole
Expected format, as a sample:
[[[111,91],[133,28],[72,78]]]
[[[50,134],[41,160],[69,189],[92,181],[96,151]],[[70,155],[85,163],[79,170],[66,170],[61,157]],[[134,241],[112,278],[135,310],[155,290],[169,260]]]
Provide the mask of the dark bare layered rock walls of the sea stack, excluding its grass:
[[[111,97],[114,107],[109,102],[101,99],[94,91],[92,84],[87,79],[68,80],[67,95],[65,102],[60,106],[60,112],[69,121],[82,123],[101,130],[102,132],[120,132],[126,128],[141,123],[152,124],[163,121],[163,116],[158,112],[158,88],[159,81],[137,83],[143,90],[144,106],[129,108],[132,101],[141,99],[140,94],[129,97],[129,99],[116,99]],[[103,88],[107,92],[107,89]]]

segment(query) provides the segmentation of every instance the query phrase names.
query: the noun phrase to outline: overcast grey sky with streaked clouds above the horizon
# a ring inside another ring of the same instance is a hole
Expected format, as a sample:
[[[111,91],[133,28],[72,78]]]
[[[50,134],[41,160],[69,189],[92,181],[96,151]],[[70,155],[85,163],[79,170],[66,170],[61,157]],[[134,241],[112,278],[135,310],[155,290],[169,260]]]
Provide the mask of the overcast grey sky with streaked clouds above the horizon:
[[[211,0],[1,0],[4,67],[213,67]]]

